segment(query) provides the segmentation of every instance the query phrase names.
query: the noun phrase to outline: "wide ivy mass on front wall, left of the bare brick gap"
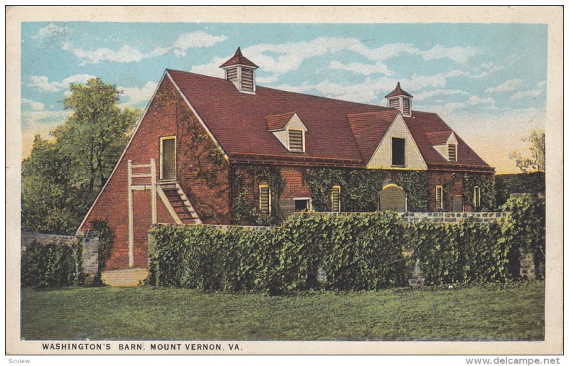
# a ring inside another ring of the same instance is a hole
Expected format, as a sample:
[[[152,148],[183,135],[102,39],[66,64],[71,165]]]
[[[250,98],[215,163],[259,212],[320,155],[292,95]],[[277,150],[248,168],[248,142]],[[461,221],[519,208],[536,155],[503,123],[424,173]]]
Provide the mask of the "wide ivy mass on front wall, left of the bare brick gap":
[[[295,214],[255,230],[157,226],[149,284],[228,291],[380,289],[404,284],[403,221],[394,213]]]

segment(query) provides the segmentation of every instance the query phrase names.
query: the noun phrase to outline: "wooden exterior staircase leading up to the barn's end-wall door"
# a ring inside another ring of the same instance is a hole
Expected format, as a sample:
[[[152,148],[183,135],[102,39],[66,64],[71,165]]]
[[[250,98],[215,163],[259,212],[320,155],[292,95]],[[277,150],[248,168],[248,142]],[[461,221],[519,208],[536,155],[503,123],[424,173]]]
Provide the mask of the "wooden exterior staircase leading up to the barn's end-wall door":
[[[177,182],[161,182],[158,185],[158,194],[164,201],[166,208],[179,225],[201,224],[201,220],[193,210],[186,193]]]

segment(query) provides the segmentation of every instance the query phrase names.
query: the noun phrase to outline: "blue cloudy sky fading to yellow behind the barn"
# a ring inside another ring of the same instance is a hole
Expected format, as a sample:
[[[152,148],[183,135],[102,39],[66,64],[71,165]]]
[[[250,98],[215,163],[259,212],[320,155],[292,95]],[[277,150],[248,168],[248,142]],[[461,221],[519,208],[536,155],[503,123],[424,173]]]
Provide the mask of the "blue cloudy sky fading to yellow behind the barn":
[[[400,81],[499,173],[545,129],[547,26],[539,24],[22,23],[23,154],[65,121],[70,82],[100,77],[145,107],[165,68],[223,77],[240,46],[257,84],[385,105]]]

